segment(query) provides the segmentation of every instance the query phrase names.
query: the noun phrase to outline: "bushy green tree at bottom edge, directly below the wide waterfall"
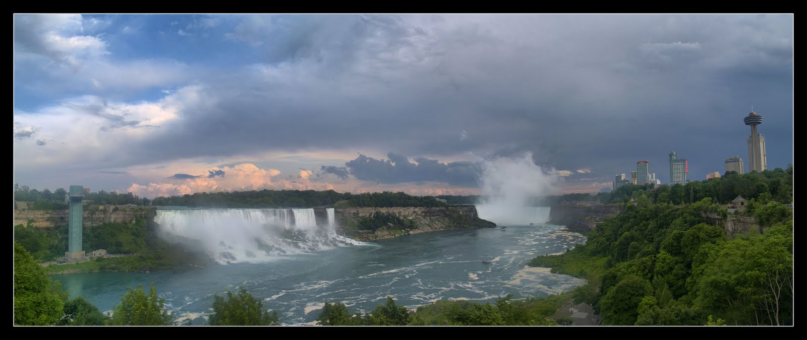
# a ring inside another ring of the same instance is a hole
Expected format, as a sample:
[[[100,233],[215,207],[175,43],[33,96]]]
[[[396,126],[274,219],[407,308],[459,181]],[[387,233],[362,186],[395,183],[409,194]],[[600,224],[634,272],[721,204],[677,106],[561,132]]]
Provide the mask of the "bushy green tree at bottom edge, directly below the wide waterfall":
[[[263,311],[263,302],[254,298],[243,287],[233,295],[227,291],[227,300],[213,296],[213,315],[210,325],[279,325],[278,313]],[[262,312],[262,313],[261,313]]]

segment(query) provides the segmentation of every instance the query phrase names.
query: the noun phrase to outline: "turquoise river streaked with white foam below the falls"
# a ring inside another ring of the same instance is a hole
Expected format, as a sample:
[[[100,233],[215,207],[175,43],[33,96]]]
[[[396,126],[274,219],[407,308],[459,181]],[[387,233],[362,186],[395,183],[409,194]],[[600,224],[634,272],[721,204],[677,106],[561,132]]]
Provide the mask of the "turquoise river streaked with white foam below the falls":
[[[583,235],[547,224],[444,230],[188,272],[52,277],[71,298],[84,296],[102,311],[113,309],[128,287],[143,284],[148,290],[154,282],[178,322],[193,320],[193,325],[207,323],[214,294],[241,285],[266,309],[277,310],[282,323],[294,325],[314,321],[325,302],[343,302],[356,313],[375,309],[386,296],[415,308],[439,300],[484,302],[507,294],[521,298],[567,291],[584,281],[525,264],[584,242]]]

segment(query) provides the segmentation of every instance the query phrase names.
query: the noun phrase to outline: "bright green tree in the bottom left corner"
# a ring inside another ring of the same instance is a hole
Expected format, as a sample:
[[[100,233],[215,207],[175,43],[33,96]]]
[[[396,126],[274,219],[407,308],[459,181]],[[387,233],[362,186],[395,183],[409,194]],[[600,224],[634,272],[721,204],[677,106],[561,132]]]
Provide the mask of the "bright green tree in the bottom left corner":
[[[51,284],[39,263],[14,243],[14,323],[53,325],[62,316],[67,296],[61,285]]]

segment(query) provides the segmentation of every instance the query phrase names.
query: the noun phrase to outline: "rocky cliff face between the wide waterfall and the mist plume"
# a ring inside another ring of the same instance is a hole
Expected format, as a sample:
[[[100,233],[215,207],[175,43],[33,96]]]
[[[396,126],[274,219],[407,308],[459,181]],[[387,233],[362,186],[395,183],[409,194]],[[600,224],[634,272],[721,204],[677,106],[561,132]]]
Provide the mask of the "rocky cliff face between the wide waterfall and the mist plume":
[[[371,218],[376,212],[408,220],[412,223],[412,228],[401,230],[395,226],[376,226],[378,229],[375,230],[358,230],[359,221],[362,218]],[[435,230],[496,226],[493,222],[479,218],[473,205],[434,208],[337,208],[334,215],[341,234],[361,241]]]

